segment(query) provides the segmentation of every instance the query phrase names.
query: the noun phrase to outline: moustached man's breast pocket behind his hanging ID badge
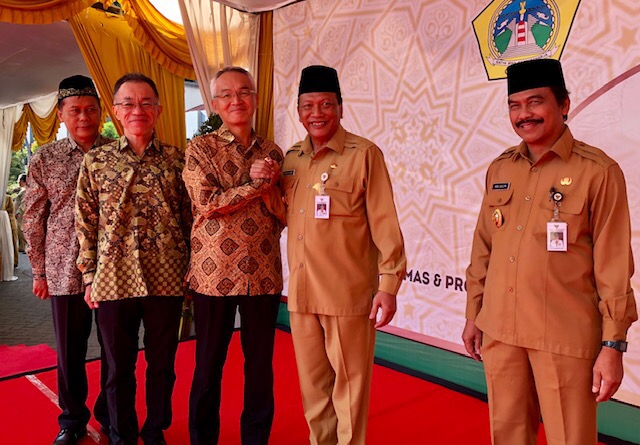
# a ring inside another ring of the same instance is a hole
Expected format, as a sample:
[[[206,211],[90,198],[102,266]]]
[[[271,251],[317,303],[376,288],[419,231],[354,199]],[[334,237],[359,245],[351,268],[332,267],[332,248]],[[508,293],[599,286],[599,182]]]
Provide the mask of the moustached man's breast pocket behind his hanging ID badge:
[[[575,243],[581,233],[589,230],[589,218],[586,212],[587,199],[584,196],[565,194],[558,207],[560,221],[567,223],[567,239],[569,244]],[[536,219],[536,236],[547,236],[547,223],[553,218],[553,201],[548,196],[540,200],[538,218]]]

